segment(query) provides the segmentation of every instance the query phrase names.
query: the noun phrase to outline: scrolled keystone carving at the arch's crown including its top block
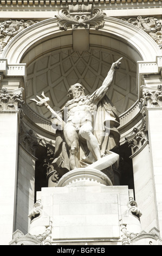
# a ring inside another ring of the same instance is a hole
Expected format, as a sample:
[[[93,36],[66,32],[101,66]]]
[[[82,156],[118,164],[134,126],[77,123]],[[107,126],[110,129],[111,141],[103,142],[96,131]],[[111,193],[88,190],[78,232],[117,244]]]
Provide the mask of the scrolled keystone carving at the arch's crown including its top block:
[[[101,9],[92,10],[92,4],[86,6],[85,4],[69,5],[69,10],[62,9],[57,15],[57,24],[60,29],[67,30],[68,28],[77,29],[82,27],[89,29],[102,28],[104,25],[103,17],[106,14]]]

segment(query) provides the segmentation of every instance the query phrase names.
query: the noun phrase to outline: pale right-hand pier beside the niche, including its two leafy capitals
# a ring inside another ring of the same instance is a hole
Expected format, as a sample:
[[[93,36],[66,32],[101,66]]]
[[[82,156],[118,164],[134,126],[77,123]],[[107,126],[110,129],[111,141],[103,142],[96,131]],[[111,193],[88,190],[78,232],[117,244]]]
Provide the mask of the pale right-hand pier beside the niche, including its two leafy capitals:
[[[144,213],[141,217],[142,228],[157,227],[162,231],[162,86],[157,85],[159,78],[145,77],[145,85],[139,88],[142,103],[143,126],[134,129],[127,138],[132,148],[135,200]],[[152,85],[151,85],[152,80]]]

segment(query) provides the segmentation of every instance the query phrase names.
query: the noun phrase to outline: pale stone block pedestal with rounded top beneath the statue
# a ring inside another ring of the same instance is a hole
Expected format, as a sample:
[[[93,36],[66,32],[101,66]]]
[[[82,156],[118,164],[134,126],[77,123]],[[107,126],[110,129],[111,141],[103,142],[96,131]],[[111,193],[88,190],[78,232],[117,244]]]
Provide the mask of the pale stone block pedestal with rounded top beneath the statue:
[[[100,172],[99,177],[97,170],[84,172],[72,170],[59,186],[37,192],[41,204],[31,213],[31,235],[45,234],[50,221],[51,245],[121,245],[122,222],[129,232],[141,231],[139,219],[129,212],[128,187],[108,184],[106,175]]]

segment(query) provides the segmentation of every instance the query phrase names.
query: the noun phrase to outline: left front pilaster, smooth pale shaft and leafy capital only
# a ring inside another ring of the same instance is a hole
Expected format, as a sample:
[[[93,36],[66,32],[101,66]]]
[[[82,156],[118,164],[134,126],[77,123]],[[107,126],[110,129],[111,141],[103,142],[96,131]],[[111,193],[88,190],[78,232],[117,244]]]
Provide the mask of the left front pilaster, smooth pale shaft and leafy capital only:
[[[0,243],[8,245],[14,230],[18,132],[22,106],[22,88],[9,90],[3,88],[0,92]]]

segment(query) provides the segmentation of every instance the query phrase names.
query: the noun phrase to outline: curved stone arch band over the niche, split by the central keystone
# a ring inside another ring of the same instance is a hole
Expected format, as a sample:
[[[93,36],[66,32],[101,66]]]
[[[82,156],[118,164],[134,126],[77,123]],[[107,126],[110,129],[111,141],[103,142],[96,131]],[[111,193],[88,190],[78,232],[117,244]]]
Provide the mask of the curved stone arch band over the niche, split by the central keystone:
[[[73,29],[60,31],[57,19],[36,23],[18,33],[5,48],[2,58],[8,63],[25,63],[27,66],[42,54],[58,48],[73,46]],[[132,57],[135,61],[154,61],[161,52],[147,33],[125,21],[105,17],[102,29],[89,29],[89,45],[110,47]],[[28,56],[28,57],[27,57]]]

